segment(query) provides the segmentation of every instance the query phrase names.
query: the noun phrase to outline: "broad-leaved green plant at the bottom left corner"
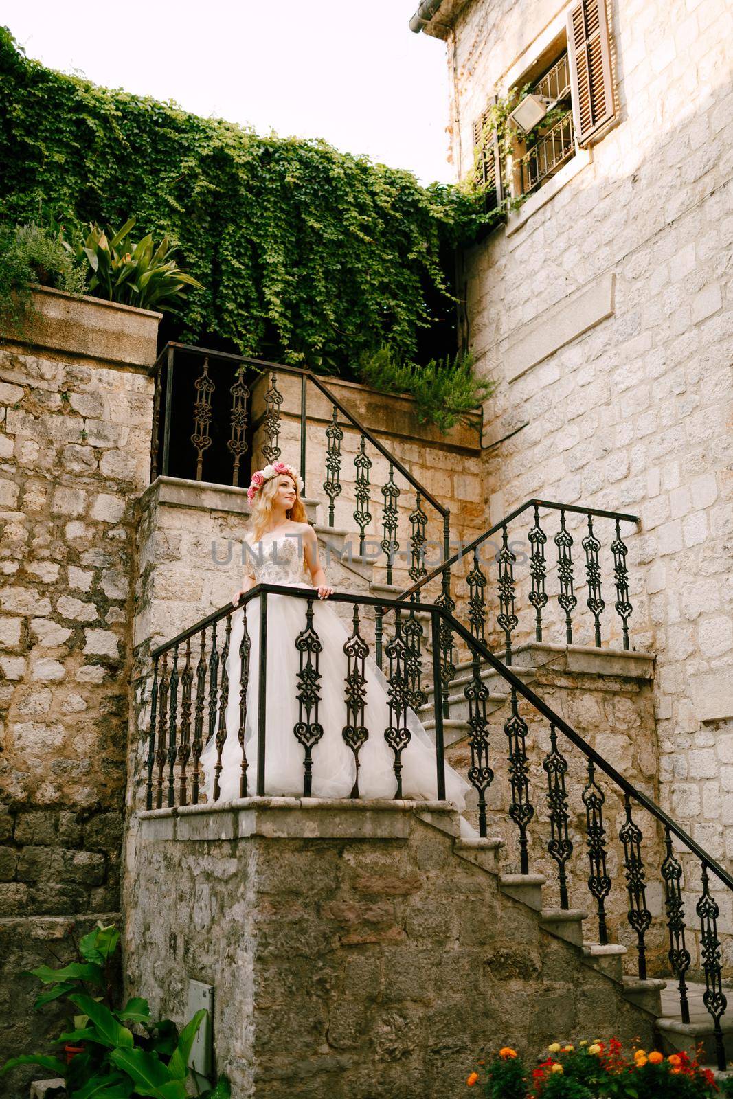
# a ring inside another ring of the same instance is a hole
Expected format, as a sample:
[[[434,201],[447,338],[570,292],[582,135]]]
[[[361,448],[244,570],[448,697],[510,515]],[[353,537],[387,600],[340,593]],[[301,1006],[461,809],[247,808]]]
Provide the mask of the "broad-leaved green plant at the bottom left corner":
[[[207,1014],[197,1011],[179,1032],[169,1019],[155,1021],[147,1000],[133,997],[115,1010],[110,997],[110,959],[119,943],[113,925],[98,924],[79,942],[81,961],[53,969],[40,966],[31,975],[46,987],[34,1007],[65,998],[73,1025],[56,1041],[81,1048],[68,1063],[60,1057],[26,1054],[11,1057],[0,1077],[18,1065],[38,1065],[64,1080],[67,1099],[187,1099],[188,1062]],[[199,1099],[230,1099],[221,1076]]]

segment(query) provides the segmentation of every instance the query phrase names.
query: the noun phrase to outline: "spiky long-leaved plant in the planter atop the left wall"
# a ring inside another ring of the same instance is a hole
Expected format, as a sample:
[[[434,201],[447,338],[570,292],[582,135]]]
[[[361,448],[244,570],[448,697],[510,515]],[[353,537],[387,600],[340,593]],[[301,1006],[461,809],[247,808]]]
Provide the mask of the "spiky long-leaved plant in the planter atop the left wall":
[[[116,233],[90,224],[82,240],[64,241],[74,258],[88,267],[91,295],[138,309],[170,310],[185,300],[187,287],[202,289],[171,258],[175,244],[167,235],[157,247],[151,233],[131,243],[134,224],[131,218]]]

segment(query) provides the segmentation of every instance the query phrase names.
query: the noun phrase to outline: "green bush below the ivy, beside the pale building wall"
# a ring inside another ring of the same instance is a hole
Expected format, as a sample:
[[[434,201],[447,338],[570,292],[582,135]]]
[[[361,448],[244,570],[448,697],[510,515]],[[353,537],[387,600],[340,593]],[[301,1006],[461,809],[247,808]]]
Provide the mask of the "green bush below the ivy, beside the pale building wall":
[[[410,393],[414,397],[421,421],[448,431],[456,423],[468,423],[468,413],[476,410],[492,392],[492,386],[474,374],[474,356],[455,355],[432,358],[425,366],[400,363],[386,346],[359,360],[363,381],[386,393]]]

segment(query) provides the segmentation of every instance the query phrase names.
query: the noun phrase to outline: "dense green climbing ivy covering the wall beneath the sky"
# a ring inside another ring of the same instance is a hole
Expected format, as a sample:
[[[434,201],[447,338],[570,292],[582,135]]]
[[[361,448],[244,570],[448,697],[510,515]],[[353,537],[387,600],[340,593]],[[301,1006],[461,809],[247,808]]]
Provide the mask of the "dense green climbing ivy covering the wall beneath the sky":
[[[168,335],[330,371],[454,349],[453,248],[487,222],[469,190],[51,71],[8,30],[0,164],[0,218],[178,242],[203,288]]]

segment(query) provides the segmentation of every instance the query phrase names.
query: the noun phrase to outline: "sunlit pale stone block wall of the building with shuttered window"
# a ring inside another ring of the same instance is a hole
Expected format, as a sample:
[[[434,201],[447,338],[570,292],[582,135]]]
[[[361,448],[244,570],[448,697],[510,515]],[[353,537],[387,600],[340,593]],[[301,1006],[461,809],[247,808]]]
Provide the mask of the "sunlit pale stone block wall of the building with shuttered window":
[[[662,803],[731,858],[733,15],[724,0],[608,7],[618,124],[465,256],[469,342],[497,382],[485,442],[517,431],[487,452],[487,514],[537,495],[641,515],[632,622],[657,655]],[[460,5],[463,174],[474,119],[562,10]]]

